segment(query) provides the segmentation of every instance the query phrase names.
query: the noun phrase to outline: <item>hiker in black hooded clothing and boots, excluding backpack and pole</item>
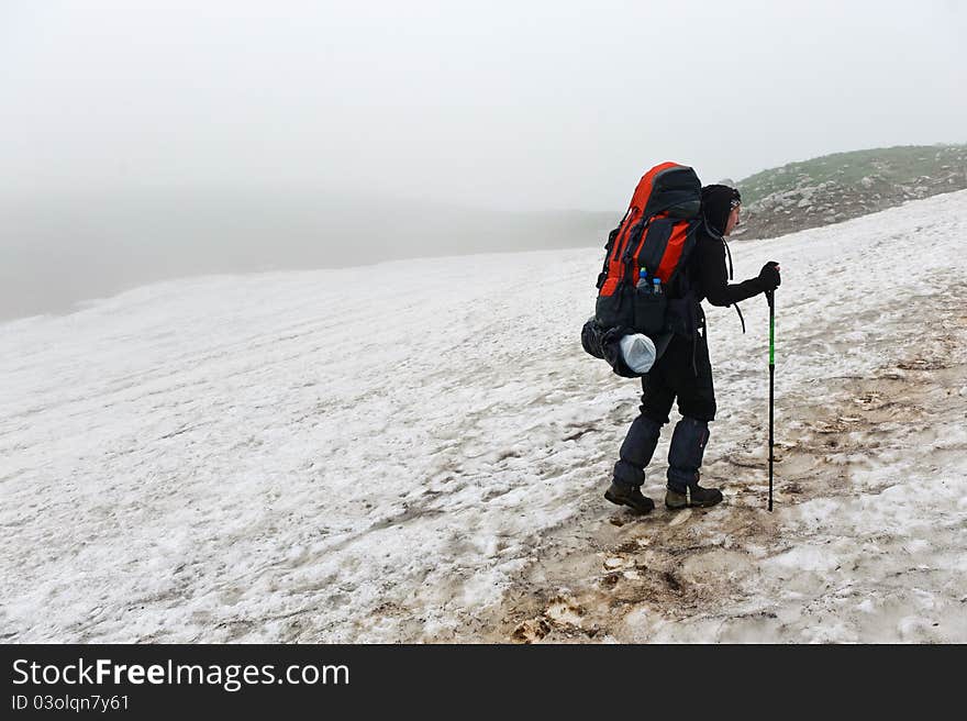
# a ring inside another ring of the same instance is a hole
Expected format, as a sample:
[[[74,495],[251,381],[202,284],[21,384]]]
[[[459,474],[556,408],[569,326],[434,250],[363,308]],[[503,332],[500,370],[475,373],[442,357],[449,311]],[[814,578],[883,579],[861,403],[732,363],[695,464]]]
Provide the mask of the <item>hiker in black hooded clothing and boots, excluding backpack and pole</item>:
[[[694,251],[683,273],[694,296],[694,326],[691,337],[675,334],[665,353],[642,377],[640,415],[631,424],[614,464],[611,486],[604,492],[612,503],[627,506],[640,513],[655,508],[642,495],[645,466],[652,461],[662,426],[676,398],[681,420],[675,426],[668,450],[668,479],[665,506],[669,509],[714,506],[722,500],[718,488],[699,486],[699,468],[709,441],[709,422],[715,418],[715,392],[709,363],[708,334],[702,299],[713,306],[731,306],[779,287],[779,264],[769,262],[758,277],[730,284],[726,276],[724,236],[738,224],[742,197],[723,185],[701,190],[703,223],[696,233]],[[731,267],[732,258],[729,257]],[[731,276],[731,273],[730,273]],[[741,315],[741,313],[740,313]]]

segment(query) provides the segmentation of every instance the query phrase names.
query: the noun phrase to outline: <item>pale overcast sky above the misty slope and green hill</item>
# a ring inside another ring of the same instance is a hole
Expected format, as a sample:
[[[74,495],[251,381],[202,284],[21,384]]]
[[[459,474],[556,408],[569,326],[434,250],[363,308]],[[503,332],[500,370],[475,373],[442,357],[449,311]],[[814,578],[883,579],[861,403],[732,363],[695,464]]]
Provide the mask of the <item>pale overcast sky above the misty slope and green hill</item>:
[[[963,143],[965,4],[0,0],[0,192],[608,210],[666,159]]]

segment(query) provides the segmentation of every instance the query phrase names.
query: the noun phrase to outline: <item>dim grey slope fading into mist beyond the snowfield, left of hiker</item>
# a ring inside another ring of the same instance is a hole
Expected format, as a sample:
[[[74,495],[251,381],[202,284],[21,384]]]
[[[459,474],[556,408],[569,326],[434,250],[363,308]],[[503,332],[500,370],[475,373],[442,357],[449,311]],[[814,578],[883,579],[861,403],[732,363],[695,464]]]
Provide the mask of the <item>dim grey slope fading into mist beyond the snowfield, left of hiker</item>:
[[[612,213],[498,212],[308,192],[0,199],[0,319],[181,276],[593,245]]]

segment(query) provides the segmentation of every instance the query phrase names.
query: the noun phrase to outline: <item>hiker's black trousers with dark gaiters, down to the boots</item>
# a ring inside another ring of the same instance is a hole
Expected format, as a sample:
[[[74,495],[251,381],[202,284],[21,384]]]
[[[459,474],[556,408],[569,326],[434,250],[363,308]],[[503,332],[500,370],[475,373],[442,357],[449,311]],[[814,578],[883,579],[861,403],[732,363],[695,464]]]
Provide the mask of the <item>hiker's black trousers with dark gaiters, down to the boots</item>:
[[[642,378],[642,391],[640,414],[627,430],[621,457],[614,464],[614,480],[631,486],[644,482],[645,466],[652,461],[662,426],[668,422],[677,399],[682,418],[675,426],[668,450],[668,487],[682,490],[698,484],[709,441],[709,421],[715,418],[715,390],[704,333],[697,334],[694,341],[675,336]]]

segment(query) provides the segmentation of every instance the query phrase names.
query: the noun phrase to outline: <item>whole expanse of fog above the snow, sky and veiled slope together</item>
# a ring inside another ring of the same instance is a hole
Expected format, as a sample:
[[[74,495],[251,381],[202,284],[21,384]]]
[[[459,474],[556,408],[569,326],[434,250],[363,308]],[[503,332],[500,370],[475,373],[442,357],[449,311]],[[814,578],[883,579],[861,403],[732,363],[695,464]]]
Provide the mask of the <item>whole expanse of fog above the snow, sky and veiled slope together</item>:
[[[956,0],[0,3],[0,318],[594,245],[642,171],[965,142]]]

